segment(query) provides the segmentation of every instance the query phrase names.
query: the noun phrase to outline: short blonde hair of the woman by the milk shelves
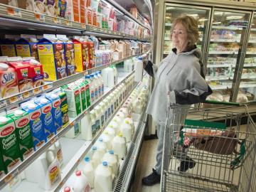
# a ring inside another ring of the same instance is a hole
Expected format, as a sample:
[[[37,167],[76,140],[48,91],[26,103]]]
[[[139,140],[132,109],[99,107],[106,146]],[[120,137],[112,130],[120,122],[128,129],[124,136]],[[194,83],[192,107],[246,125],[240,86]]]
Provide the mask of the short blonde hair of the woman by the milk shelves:
[[[181,23],[186,28],[186,32],[188,33],[188,46],[195,45],[199,38],[198,21],[192,16],[179,16],[175,18],[172,23],[171,33],[174,31],[177,23]]]

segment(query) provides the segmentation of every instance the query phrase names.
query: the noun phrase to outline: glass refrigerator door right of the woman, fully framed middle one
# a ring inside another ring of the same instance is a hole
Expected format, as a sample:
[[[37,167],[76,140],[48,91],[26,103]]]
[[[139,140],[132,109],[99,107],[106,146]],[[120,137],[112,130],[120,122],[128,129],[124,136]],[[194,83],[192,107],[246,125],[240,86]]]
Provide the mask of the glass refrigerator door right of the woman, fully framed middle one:
[[[213,90],[208,100],[229,102],[235,66],[239,64],[250,14],[213,11],[206,81]]]

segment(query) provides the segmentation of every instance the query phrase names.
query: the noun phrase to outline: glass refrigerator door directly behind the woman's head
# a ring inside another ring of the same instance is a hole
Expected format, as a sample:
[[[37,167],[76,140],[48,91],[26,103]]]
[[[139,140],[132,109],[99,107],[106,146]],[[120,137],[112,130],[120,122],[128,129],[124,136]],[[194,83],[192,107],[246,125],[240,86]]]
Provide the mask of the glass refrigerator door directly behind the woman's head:
[[[206,46],[206,32],[208,31],[210,9],[201,8],[200,6],[185,6],[176,4],[166,4],[166,15],[164,18],[164,37],[163,37],[163,55],[165,58],[174,48],[171,42],[171,26],[175,18],[178,16],[193,16],[198,20],[199,41],[197,47],[201,48],[202,52]],[[204,55],[204,54],[203,54]]]

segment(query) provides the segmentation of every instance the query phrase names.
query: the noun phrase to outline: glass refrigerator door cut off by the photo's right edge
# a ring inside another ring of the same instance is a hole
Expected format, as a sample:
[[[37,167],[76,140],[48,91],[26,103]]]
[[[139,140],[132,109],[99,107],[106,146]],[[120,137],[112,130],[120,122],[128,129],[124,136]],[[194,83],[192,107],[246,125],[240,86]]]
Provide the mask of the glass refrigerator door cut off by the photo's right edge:
[[[237,102],[256,101],[256,14],[252,18]]]

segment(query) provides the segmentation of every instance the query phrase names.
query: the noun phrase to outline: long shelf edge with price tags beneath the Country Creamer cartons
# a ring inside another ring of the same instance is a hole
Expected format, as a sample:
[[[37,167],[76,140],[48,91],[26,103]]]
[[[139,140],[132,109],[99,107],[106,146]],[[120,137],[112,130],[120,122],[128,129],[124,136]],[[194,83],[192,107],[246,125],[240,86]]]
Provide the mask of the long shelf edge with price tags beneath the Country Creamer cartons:
[[[132,74],[129,73],[126,77],[124,78],[118,78],[118,83],[115,87],[117,87],[118,85],[121,85],[122,82],[124,82],[125,80],[127,80],[127,78],[129,78]],[[122,74],[124,75],[124,74]],[[105,97],[107,97],[108,95],[110,95],[111,92],[114,91],[115,87],[112,87],[111,89],[109,89],[107,92],[105,92],[105,94],[99,99],[97,100],[97,102],[95,102],[95,104],[91,105],[85,112],[82,112],[82,114],[78,115],[78,117],[71,119],[70,118],[70,123],[64,127],[58,134],[56,134],[52,139],[50,139],[46,144],[44,144],[40,149],[38,149],[37,151],[35,151],[31,156],[28,157],[28,159],[26,159],[25,161],[23,161],[20,165],[18,165],[16,167],[16,169],[14,169],[13,171],[10,171],[9,174],[7,174],[4,178],[1,179],[0,181],[0,189],[4,188],[4,186],[6,186],[7,183],[9,183],[11,181],[12,178],[14,178],[16,175],[18,175],[19,173],[21,173],[21,171],[25,170],[26,167],[28,165],[30,165],[33,161],[35,161],[38,156],[40,156],[41,154],[43,154],[44,151],[46,151],[46,149],[48,149],[55,141],[57,141],[58,139],[60,139],[60,137],[63,137],[65,135],[65,133],[68,132],[68,130],[74,126],[75,123],[80,122],[80,120],[82,119],[82,117],[85,116],[85,114],[87,112],[90,112],[90,110],[92,110],[95,106],[97,106],[102,100],[105,99]],[[98,135],[98,134],[97,134]],[[68,176],[66,176],[66,179],[68,178]],[[61,184],[61,183],[60,183]],[[60,188],[59,188],[60,189]]]

